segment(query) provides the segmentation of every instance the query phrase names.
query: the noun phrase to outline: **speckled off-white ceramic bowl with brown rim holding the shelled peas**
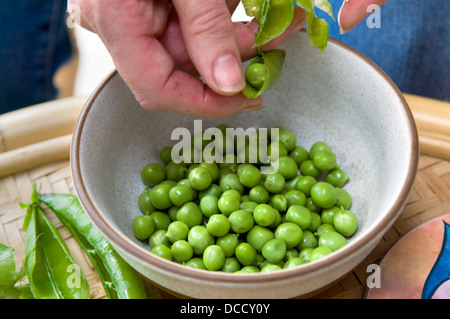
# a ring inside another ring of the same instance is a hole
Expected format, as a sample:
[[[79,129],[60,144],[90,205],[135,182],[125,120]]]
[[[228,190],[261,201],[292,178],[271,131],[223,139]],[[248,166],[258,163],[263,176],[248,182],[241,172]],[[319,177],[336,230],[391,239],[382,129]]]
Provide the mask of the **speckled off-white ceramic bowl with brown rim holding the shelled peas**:
[[[394,223],[412,188],[418,138],[411,111],[394,83],[367,58],[330,39],[325,54],[305,32],[284,44],[282,77],[264,96],[265,108],[228,118],[204,119],[203,128],[280,125],[309,148],[332,146],[350,175],[358,231],[349,244],[298,268],[264,274],[196,270],[149,252],[133,236],[143,190],[140,170],[174,144],[177,127],[193,131],[194,118],[140,107],[117,72],[92,94],[76,125],[71,166],[85,210],[133,267],[157,285],[195,298],[289,298],[336,281],[357,266]]]

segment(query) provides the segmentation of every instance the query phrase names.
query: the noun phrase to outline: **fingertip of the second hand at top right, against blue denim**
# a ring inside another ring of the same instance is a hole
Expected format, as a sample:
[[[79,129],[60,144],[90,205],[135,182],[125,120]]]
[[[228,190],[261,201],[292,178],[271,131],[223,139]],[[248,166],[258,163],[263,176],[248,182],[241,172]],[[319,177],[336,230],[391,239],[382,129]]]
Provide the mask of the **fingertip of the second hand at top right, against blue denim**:
[[[341,33],[345,33],[358,25],[370,12],[367,7],[375,4],[382,6],[387,0],[344,0],[339,11],[338,22]]]

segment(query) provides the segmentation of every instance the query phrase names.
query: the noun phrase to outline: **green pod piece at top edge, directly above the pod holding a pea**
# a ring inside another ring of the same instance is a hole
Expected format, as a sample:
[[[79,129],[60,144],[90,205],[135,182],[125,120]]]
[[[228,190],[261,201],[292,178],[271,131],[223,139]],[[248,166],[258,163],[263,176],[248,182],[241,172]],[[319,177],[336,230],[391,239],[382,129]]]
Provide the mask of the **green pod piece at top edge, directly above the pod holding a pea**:
[[[294,18],[294,0],[243,0],[246,14],[258,20],[255,46],[281,35]]]

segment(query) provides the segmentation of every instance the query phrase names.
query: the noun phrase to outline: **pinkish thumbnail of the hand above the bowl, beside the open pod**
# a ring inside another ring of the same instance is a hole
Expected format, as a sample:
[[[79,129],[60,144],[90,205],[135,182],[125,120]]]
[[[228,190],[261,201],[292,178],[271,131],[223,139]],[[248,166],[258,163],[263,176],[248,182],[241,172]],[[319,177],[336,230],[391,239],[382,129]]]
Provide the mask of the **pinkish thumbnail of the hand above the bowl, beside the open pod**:
[[[223,92],[237,93],[245,86],[242,65],[233,54],[222,55],[214,62],[213,76]]]

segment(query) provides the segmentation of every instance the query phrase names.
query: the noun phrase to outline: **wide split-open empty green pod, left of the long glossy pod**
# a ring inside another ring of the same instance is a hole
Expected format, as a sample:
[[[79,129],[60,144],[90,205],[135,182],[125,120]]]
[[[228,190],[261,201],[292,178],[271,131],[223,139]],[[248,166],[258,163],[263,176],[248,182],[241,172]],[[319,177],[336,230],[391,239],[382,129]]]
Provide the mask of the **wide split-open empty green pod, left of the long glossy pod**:
[[[89,286],[57,229],[41,207],[31,203],[27,214],[25,267],[36,299],[87,299]]]

